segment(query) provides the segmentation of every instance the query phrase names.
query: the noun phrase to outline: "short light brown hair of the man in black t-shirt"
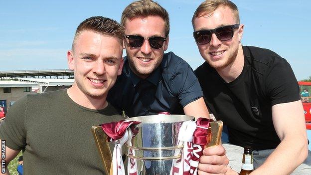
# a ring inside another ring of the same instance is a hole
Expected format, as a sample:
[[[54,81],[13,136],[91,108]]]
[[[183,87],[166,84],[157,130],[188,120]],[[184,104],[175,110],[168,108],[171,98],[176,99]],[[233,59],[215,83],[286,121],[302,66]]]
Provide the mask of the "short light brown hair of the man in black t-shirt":
[[[233,14],[236,17],[237,23],[240,23],[239,9],[230,0],[205,0],[196,8],[196,10],[193,14],[193,17],[192,17],[192,26],[193,26],[193,20],[195,17],[201,17],[201,16],[205,16],[205,15],[211,16],[213,14],[213,12],[219,6],[229,7],[233,11]]]

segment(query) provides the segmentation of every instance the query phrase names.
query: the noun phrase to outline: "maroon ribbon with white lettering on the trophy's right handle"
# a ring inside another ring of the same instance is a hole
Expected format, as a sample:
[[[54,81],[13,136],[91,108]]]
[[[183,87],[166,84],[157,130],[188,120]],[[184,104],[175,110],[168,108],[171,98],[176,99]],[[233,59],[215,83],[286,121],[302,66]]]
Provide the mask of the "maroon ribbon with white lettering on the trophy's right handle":
[[[199,118],[196,121],[196,128],[193,132],[193,152],[189,175],[197,175],[199,159],[203,155],[205,145],[210,141],[211,131],[209,130],[209,122],[210,120],[206,118]]]

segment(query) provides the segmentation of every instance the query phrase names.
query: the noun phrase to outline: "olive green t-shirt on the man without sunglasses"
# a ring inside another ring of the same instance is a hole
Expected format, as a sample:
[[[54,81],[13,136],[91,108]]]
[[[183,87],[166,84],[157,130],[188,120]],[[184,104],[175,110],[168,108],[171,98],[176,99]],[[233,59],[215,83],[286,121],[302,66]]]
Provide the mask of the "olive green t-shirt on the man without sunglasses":
[[[28,94],[8,110],[0,139],[10,149],[24,149],[25,175],[103,175],[91,127],[123,119],[111,105],[78,105],[66,89]]]

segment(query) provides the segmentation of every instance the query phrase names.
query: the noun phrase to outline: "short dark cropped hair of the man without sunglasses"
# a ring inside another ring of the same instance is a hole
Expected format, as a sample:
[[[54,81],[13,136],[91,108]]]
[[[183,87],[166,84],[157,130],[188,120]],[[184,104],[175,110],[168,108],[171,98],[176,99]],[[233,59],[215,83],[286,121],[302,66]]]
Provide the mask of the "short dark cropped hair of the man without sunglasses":
[[[73,42],[72,42],[72,50],[74,48],[74,44],[76,42],[77,37],[83,31],[94,31],[100,34],[115,36],[119,38],[120,43],[124,39],[124,27],[119,24],[117,21],[110,19],[108,17],[103,16],[92,16],[85,19],[83,22],[79,24],[77,27]]]

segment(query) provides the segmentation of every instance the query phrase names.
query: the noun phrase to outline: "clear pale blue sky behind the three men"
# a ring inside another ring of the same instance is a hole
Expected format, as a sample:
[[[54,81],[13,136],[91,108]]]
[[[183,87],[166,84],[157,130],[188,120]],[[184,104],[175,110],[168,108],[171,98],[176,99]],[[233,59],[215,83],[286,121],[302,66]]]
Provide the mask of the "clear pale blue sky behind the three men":
[[[193,69],[203,63],[191,17],[203,0],[157,0],[170,16],[167,51]],[[245,25],[243,45],[269,48],[291,64],[298,80],[311,76],[310,0],[232,0]],[[0,71],[67,69],[76,27],[101,15],[120,21],[132,0],[0,0]],[[309,21],[309,22],[308,22]]]

